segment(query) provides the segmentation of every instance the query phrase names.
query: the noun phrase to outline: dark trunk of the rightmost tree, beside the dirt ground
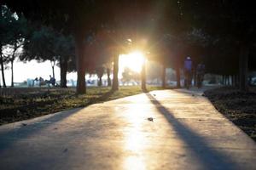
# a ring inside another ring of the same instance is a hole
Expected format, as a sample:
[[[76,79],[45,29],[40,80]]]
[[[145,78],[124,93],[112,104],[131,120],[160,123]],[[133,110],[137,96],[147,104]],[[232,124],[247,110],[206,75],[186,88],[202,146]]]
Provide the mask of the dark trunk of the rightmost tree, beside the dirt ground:
[[[248,47],[246,45],[241,45],[240,55],[239,55],[239,73],[240,73],[239,88],[243,92],[246,92],[248,90],[248,87],[247,87],[248,54],[249,54]]]

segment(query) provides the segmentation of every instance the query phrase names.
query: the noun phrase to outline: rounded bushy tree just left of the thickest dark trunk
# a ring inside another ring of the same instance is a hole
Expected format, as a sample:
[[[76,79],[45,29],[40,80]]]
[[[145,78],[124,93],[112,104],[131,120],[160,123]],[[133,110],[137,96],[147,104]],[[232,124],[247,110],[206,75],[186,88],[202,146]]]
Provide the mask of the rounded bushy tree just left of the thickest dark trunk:
[[[55,63],[61,68],[61,88],[67,88],[67,67],[74,56],[72,37],[64,36],[53,29],[43,26],[39,30],[32,29],[26,37],[21,60],[37,59],[39,62],[49,59],[55,77]]]

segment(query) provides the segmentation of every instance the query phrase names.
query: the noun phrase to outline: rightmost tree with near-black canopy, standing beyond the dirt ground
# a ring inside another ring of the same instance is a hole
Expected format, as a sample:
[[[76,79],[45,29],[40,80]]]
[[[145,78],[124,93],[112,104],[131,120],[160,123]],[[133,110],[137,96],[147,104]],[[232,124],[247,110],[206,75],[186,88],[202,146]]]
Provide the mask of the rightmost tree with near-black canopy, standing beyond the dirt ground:
[[[256,34],[255,5],[253,2],[241,0],[201,0],[196,2],[183,0],[180,2],[183,6],[184,15],[190,19],[193,26],[202,29],[212,37],[218,37],[220,40],[218,42],[222,42],[222,40],[236,42],[236,47],[240,51],[236,54],[239,56],[240,89],[247,91],[248,55],[252,51]],[[219,53],[222,52],[219,50]],[[236,58],[236,55],[233,57]]]

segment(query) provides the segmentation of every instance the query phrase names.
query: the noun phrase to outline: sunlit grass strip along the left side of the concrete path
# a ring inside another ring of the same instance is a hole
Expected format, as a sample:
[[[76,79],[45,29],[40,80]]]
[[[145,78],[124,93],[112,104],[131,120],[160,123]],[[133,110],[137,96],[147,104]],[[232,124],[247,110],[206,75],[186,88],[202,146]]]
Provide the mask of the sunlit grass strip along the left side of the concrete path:
[[[148,91],[162,89],[148,86]],[[138,86],[87,88],[87,94],[75,94],[75,88],[9,88],[1,89],[0,125],[43,116],[58,111],[84,107],[112,99],[143,93]]]

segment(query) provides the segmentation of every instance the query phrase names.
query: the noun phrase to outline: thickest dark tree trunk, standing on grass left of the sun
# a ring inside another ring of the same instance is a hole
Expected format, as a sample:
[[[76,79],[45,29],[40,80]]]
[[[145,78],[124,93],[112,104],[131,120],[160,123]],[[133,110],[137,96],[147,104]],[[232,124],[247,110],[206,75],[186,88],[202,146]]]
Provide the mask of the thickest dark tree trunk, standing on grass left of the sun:
[[[86,94],[84,67],[84,35],[80,31],[75,35],[76,66],[78,71],[77,94]]]

